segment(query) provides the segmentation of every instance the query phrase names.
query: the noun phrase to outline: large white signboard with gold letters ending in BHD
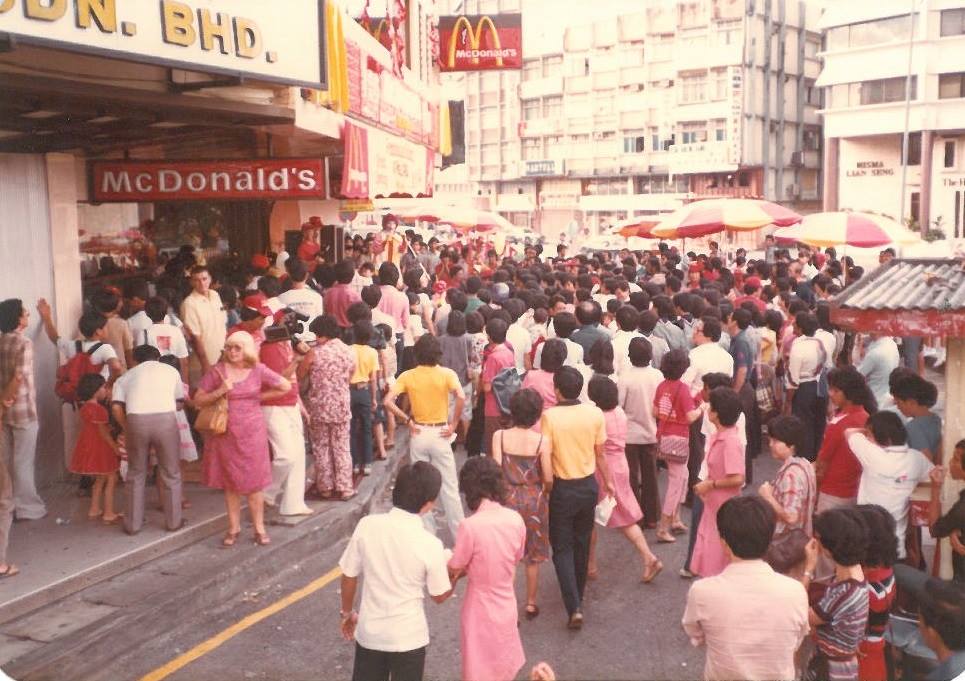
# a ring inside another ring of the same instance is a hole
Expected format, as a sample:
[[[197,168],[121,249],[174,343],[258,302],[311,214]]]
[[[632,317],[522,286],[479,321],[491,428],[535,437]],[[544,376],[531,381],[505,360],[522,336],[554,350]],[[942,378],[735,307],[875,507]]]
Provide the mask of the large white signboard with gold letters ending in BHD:
[[[322,87],[319,0],[0,0],[0,33],[24,43]]]

